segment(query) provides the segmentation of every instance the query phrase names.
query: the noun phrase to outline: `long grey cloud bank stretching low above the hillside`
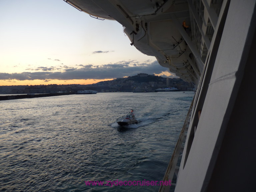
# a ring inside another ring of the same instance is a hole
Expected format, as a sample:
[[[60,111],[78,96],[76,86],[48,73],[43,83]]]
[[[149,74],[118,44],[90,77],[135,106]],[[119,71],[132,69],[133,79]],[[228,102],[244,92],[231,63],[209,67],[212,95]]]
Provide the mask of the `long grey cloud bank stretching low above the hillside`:
[[[120,61],[106,65],[93,66],[79,65],[80,68],[62,66],[62,71],[53,71],[53,67],[38,67],[42,71],[23,72],[23,73],[0,73],[0,80],[71,80],[71,79],[112,79],[125,76],[134,76],[138,73],[161,74],[169,72],[168,68],[162,67],[157,61],[139,63],[133,65],[134,60]],[[166,76],[167,77],[167,76]],[[173,77],[170,75],[169,77]]]

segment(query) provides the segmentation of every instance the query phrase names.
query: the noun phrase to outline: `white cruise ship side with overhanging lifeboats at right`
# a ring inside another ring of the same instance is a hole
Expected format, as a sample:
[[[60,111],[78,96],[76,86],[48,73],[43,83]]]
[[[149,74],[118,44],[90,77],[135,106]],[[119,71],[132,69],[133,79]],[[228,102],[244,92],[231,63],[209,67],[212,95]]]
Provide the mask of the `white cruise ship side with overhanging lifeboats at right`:
[[[176,192],[256,191],[255,0],[65,1],[118,21],[131,45],[197,86],[164,178],[177,176]]]

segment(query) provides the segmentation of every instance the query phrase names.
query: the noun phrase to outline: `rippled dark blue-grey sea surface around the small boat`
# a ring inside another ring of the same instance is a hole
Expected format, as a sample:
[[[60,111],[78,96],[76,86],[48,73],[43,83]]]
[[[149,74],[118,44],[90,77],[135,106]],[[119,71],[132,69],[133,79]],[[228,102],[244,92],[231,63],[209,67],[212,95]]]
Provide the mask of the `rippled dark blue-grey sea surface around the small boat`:
[[[193,92],[0,101],[0,191],[158,191],[85,181],[160,181]],[[130,109],[138,124],[120,129]]]

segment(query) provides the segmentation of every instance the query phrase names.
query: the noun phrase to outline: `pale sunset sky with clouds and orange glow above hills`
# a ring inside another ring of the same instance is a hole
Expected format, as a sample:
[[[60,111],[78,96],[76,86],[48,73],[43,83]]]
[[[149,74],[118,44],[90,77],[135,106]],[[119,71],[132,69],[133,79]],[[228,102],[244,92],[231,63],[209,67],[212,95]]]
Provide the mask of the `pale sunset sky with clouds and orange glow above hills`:
[[[130,43],[117,21],[92,18],[63,0],[0,0],[0,85],[176,77]]]

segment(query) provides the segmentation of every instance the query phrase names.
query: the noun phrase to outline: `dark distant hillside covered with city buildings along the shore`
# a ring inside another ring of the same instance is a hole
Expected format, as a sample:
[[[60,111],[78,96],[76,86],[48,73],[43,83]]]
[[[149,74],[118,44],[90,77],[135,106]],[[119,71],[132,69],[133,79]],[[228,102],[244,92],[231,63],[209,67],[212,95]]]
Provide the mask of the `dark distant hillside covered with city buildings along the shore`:
[[[154,92],[160,87],[177,87],[181,91],[192,91],[194,85],[180,78],[164,78],[156,75],[139,73],[138,75],[101,81],[90,85],[20,85],[0,86],[0,94],[56,93],[95,90],[98,92]]]

